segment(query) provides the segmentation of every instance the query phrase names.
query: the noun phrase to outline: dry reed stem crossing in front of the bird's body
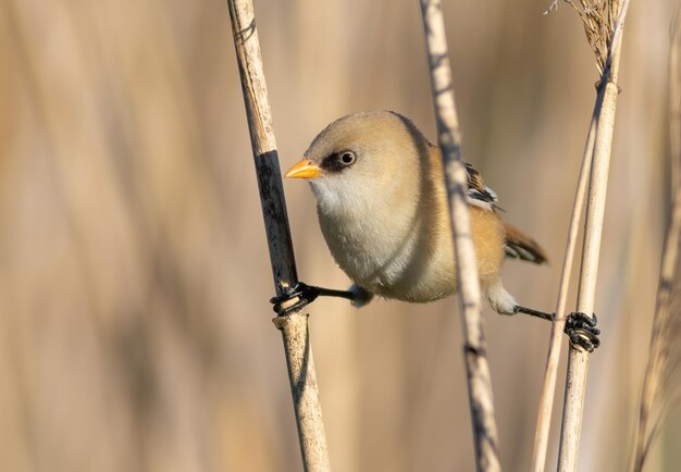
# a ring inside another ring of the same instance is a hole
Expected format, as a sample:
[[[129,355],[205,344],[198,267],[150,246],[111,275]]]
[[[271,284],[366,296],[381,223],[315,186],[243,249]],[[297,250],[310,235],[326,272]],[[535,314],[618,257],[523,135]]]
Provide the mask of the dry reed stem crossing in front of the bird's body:
[[[480,301],[478,262],[468,210],[467,175],[461,158],[461,137],[454,100],[451,70],[447,55],[445,22],[439,0],[421,0],[423,29],[442,150],[445,183],[457,266],[457,284],[465,336],[468,393],[478,471],[500,471],[492,380],[486,357]]]

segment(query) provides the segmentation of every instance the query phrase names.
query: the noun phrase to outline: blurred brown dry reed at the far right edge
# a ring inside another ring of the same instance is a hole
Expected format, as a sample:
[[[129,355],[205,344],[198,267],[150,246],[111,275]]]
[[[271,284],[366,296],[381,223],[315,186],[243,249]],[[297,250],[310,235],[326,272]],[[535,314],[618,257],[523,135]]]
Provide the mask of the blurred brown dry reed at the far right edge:
[[[669,150],[671,218],[660,265],[649,358],[643,380],[630,469],[641,472],[666,418],[681,395],[681,30],[672,23],[669,52]]]

